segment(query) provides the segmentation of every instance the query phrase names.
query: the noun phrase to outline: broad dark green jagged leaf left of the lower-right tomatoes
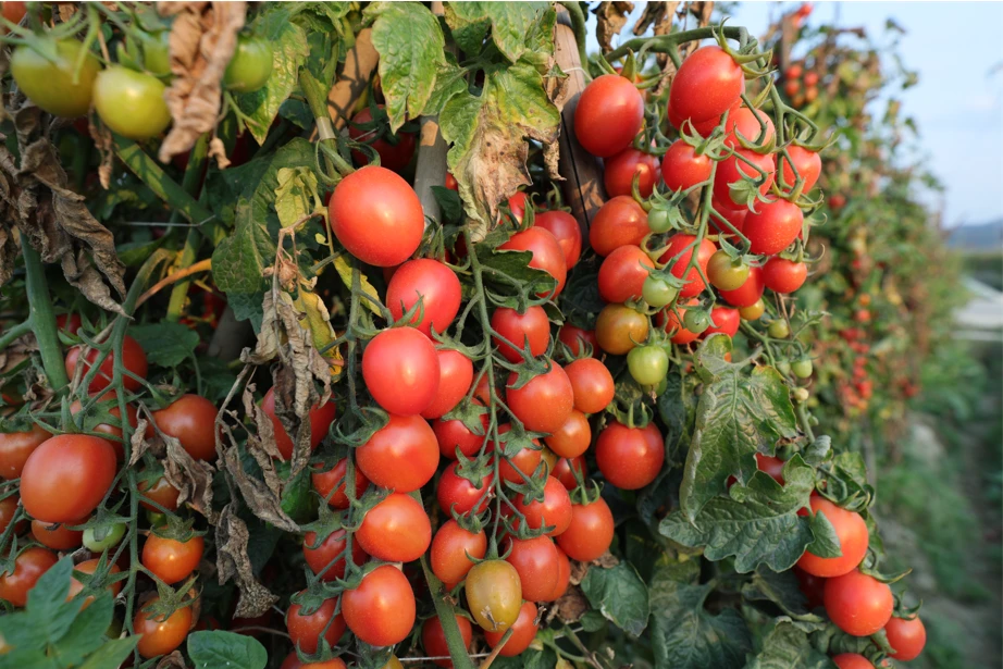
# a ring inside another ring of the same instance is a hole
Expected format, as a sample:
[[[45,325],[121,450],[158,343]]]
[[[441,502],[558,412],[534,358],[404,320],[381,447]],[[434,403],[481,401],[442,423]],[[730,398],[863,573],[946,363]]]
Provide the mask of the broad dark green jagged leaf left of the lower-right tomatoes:
[[[783,476],[781,487],[769,474],[757,472],[746,487],[735,483],[728,497],[715,497],[692,521],[674,511],[658,531],[684,546],[703,547],[709,560],[734,556],[740,573],[760,563],[773,571],[790,569],[815,541],[810,519],[797,516],[815,490],[815,470],[794,456]]]

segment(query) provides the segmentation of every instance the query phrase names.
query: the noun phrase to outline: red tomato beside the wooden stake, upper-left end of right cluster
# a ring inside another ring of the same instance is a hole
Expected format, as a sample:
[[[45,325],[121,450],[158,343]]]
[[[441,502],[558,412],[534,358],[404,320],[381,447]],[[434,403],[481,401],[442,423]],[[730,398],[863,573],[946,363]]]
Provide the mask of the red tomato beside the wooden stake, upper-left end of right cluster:
[[[592,79],[574,108],[574,136],[586,151],[599,158],[630,146],[643,123],[641,91],[618,74]]]

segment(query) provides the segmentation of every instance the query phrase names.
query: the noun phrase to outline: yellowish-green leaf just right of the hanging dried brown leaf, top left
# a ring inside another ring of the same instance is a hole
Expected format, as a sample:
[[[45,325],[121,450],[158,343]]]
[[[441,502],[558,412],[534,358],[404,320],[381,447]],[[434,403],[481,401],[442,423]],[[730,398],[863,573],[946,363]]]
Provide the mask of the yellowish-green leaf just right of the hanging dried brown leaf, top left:
[[[310,49],[307,34],[290,21],[289,11],[282,3],[265,5],[265,11],[251,23],[251,29],[272,47],[272,75],[258,90],[236,94],[234,100],[253,122],[248,124],[248,128],[260,145],[268,136],[278,108],[296,88],[299,67],[306,62]]]

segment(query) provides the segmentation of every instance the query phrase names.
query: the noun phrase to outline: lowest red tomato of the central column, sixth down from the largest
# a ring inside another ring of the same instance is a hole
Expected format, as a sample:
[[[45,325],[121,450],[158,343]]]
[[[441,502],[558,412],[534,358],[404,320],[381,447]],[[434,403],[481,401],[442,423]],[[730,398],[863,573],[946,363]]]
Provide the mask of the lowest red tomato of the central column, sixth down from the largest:
[[[383,565],[366,574],[357,589],[342,594],[342,614],[363,642],[392,646],[414,627],[414,591],[399,569]]]

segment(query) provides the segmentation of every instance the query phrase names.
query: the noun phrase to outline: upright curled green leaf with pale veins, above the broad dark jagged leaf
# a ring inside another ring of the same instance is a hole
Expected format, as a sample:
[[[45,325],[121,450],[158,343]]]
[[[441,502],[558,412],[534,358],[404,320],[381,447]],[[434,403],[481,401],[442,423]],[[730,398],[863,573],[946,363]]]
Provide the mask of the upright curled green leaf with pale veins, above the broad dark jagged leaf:
[[[747,362],[725,360],[730,352],[730,337],[711,335],[697,354],[705,387],[680,492],[691,522],[727,490],[729,478],[744,482],[758,471],[756,451],[772,454],[778,439],[797,434],[794,406],[777,370],[756,367],[746,373]]]

